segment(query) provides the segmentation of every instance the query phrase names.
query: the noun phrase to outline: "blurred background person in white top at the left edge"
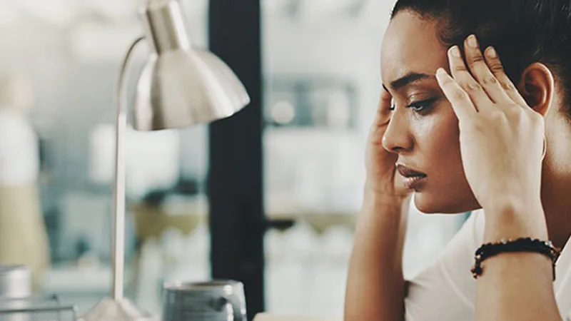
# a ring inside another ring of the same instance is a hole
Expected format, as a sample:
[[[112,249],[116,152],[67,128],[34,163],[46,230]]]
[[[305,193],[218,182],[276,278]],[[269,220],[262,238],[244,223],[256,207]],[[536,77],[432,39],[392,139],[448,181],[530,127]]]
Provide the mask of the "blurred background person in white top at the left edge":
[[[32,104],[29,79],[0,72],[0,265],[29,266],[38,289],[49,267],[49,244],[38,190],[38,138],[27,119]]]

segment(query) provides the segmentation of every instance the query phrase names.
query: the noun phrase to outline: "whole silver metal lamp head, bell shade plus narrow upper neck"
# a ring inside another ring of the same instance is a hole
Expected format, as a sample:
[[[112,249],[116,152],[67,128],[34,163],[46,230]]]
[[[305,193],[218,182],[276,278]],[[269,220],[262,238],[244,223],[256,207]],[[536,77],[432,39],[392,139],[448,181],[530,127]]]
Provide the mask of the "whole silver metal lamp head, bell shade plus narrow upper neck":
[[[181,128],[232,116],[250,98],[230,67],[188,39],[176,0],[148,0],[141,11],[153,54],[138,81],[133,127]]]

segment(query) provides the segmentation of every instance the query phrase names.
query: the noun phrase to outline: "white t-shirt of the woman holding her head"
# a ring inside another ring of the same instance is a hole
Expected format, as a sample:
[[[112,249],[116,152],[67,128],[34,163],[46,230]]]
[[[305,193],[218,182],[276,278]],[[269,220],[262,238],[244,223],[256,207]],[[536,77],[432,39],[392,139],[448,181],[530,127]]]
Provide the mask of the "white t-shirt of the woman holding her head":
[[[468,218],[435,263],[410,280],[405,299],[406,321],[475,320],[476,280],[470,268],[483,235],[484,213],[479,210]],[[563,248],[557,260],[553,283],[557,307],[563,316],[571,312],[570,246]]]

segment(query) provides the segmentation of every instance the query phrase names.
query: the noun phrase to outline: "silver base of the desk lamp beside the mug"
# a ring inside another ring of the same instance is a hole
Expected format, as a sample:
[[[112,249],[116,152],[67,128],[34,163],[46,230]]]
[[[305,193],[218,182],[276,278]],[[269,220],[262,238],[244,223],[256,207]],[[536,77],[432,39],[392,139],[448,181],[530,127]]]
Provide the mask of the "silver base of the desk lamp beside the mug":
[[[78,321],[158,321],[158,317],[152,317],[138,308],[128,299],[121,301],[106,297],[99,301],[86,315]]]

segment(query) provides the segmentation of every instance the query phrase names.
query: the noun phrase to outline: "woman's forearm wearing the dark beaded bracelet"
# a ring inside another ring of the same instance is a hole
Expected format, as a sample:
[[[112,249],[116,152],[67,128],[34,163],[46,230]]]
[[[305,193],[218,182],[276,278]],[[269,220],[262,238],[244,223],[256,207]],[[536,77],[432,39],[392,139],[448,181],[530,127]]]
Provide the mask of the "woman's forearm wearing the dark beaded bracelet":
[[[485,210],[485,243],[522,237],[547,240],[541,205]],[[550,258],[536,253],[504,253],[488,258],[482,266],[484,272],[477,280],[478,321],[561,320]]]

